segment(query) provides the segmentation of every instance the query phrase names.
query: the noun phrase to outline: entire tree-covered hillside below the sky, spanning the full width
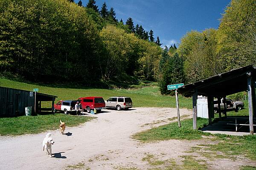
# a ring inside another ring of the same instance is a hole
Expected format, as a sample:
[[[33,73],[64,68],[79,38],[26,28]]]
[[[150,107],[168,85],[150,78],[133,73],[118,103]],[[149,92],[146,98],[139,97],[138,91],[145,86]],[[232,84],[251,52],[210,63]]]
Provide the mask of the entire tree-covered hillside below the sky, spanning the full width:
[[[198,18],[200,20],[200,18]],[[256,64],[256,1],[231,0],[218,29],[190,31],[160,47],[152,30],[113,8],[73,0],[1,0],[0,72],[30,81],[195,82]]]

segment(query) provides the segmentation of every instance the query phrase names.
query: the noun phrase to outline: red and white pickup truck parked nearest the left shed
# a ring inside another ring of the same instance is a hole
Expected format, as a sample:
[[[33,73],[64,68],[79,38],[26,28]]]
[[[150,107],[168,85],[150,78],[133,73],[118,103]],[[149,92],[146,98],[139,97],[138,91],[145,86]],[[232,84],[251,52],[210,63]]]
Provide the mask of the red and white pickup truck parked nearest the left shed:
[[[78,100],[60,100],[54,104],[54,113],[56,111],[63,111],[65,114],[72,113],[75,111],[75,105]]]

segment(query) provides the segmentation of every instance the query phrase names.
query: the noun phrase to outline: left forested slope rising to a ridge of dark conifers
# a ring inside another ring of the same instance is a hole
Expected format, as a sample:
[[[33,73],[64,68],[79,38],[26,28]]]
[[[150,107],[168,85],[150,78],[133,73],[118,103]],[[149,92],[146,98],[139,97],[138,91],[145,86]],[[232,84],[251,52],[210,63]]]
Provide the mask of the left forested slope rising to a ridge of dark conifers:
[[[106,4],[100,11],[95,1],[87,6],[1,0],[0,71],[45,82],[131,82],[134,76],[155,81],[162,49],[150,42],[148,32],[118,22]]]

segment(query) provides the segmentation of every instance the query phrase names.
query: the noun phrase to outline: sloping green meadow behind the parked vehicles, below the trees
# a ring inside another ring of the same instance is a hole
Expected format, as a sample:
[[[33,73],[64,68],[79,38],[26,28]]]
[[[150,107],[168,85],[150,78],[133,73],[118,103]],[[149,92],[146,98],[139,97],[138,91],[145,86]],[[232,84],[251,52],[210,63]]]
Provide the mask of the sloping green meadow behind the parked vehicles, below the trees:
[[[175,96],[163,96],[156,86],[146,86],[142,89],[97,89],[81,87],[79,85],[43,85],[28,84],[16,82],[9,79],[0,78],[0,86],[8,88],[17,88],[21,90],[32,91],[33,88],[39,88],[40,93],[58,96],[58,100],[78,99],[85,96],[102,96],[105,100],[111,96],[129,96],[133,101],[134,107],[171,107],[176,108]],[[42,106],[50,105],[51,102],[42,102]],[[192,99],[179,95],[180,108],[192,108]]]

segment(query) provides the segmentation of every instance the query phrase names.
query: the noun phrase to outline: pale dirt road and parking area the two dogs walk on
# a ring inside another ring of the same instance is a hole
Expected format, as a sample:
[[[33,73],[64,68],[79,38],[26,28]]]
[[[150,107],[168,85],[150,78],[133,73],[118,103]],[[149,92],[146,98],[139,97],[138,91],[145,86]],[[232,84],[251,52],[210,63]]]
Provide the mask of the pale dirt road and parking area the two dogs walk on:
[[[180,115],[192,116],[192,112],[180,109]],[[104,110],[87,116],[96,116],[97,119],[79,127],[68,127],[68,122],[62,120],[67,125],[66,135],[60,134],[58,127],[50,131],[55,141],[53,158],[42,151],[46,133],[0,137],[0,170],[62,170],[79,163],[83,169],[90,170],[147,169],[148,162],[142,161],[146,154],[161,156],[161,159],[177,159],[196,143],[169,140],[142,144],[130,138],[134,133],[170,122],[168,118],[177,116],[176,108]]]

